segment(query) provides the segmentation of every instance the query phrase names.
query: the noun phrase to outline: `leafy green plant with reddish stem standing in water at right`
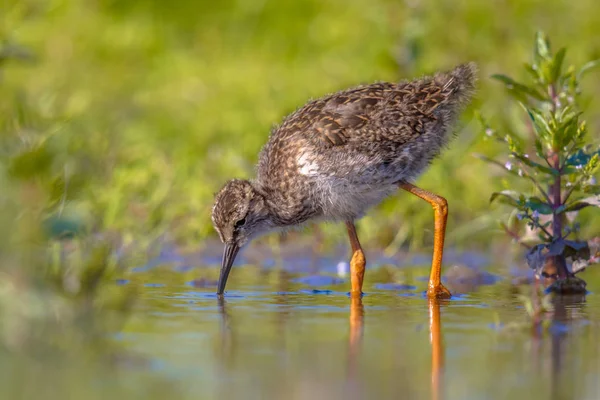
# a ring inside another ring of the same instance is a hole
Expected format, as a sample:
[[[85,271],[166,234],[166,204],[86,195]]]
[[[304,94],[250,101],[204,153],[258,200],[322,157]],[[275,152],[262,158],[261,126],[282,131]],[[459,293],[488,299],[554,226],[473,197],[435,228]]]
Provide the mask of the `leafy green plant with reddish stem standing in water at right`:
[[[530,187],[528,192],[513,188],[494,192],[490,201],[514,209],[502,228],[530,249],[527,261],[542,275],[551,257],[558,258],[552,262],[555,266],[565,258],[571,259],[574,270],[585,266],[590,258],[588,244],[573,240],[580,229],[577,215],[584,208],[600,206],[600,185],[595,178],[600,150],[590,143],[579,105],[581,79],[600,61],[588,62],[579,69],[565,67],[565,55],[565,48],[553,52],[548,37],[538,33],[533,62],[524,66],[527,81],[501,74],[492,76],[522,106],[527,123],[510,132],[493,129],[481,119],[486,136],[508,150],[508,157],[502,161],[481,158],[510,174],[511,185],[516,187],[517,181],[525,181]],[[518,232],[518,221],[526,222],[529,235]],[[557,269],[560,277],[568,275],[566,268]]]

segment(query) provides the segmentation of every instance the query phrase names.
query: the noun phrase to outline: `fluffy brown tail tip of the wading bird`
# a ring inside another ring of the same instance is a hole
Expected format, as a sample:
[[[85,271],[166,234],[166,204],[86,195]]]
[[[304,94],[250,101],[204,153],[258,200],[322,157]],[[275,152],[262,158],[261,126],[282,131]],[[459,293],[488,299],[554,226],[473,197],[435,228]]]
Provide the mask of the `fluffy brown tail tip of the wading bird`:
[[[475,93],[477,64],[474,62],[461,64],[451,71],[437,73],[433,79],[442,86],[446,104],[462,108],[469,103]]]

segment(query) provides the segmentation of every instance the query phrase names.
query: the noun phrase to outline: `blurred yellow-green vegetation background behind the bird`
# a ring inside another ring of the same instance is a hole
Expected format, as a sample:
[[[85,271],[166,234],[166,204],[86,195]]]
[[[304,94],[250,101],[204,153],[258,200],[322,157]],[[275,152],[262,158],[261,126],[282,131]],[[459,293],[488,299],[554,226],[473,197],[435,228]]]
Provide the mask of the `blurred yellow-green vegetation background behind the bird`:
[[[179,245],[214,236],[213,193],[251,177],[270,130],[308,99],[473,60],[476,101],[419,184],[450,202],[448,240],[503,239],[488,205],[506,186],[473,110],[513,129],[523,113],[492,73],[515,74],[537,30],[567,64],[600,56],[594,0],[1,0],[0,249],[44,235]],[[517,78],[519,75],[517,73]],[[598,76],[583,82],[600,92]],[[597,132],[598,99],[584,102]],[[587,212],[587,211],[586,211]],[[590,212],[590,216],[593,212]],[[40,224],[40,221],[44,221]],[[598,233],[596,223],[584,226]],[[428,206],[395,196],[360,223],[370,245],[431,241]],[[345,241],[326,225],[328,243]],[[307,231],[310,233],[310,231]]]

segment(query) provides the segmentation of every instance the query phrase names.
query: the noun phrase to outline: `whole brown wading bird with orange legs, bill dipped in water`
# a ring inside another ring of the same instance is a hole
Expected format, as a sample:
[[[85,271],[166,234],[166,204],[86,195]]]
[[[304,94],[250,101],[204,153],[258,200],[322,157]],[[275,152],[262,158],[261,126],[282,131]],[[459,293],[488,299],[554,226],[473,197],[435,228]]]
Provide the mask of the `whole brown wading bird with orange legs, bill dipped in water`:
[[[314,100],[288,116],[263,148],[255,180],[231,180],[216,195],[212,220],[225,243],[222,294],[241,246],[311,219],[344,221],[352,245],[352,293],[361,293],[365,257],[354,220],[398,187],[431,204],[434,250],[428,295],[440,281],[448,207],[410,183],[452,136],[471,98],[474,64],[410,82],[375,83]]]

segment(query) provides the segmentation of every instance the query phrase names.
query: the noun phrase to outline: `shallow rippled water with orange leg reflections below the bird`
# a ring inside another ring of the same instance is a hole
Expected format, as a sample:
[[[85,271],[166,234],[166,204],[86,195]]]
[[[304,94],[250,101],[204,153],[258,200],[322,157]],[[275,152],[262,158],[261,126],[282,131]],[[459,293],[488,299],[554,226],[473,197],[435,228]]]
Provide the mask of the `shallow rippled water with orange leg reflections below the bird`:
[[[125,361],[78,377],[96,389],[72,398],[105,398],[107,387],[145,399],[600,395],[597,269],[581,275],[587,296],[555,298],[536,324],[518,297],[530,286],[515,286],[506,267],[447,267],[455,297],[430,301],[427,267],[367,269],[366,295],[350,299],[347,277],[336,275],[344,266],[323,263],[325,272],[235,267],[224,301],[214,266],[163,260],[129,273],[116,286],[136,286],[140,298],[110,335]],[[71,393],[63,385],[61,398]]]

